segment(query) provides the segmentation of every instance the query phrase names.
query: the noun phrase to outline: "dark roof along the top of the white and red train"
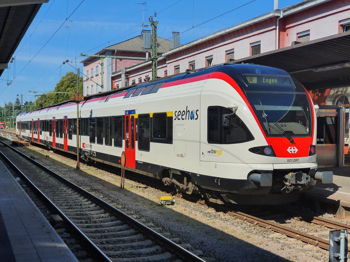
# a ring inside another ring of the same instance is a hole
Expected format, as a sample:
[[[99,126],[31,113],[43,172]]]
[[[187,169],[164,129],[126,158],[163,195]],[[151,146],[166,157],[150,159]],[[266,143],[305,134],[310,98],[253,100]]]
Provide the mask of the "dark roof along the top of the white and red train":
[[[138,96],[145,94],[152,94],[158,92],[161,86],[165,83],[175,82],[182,79],[188,79],[193,77],[198,77],[203,74],[214,73],[214,72],[222,72],[234,79],[238,79],[241,82],[245,82],[243,74],[266,74],[266,75],[288,75],[288,73],[284,70],[274,67],[254,65],[254,64],[219,64],[210,67],[204,67],[197,70],[187,70],[186,72],[171,75],[168,77],[158,78],[155,80],[134,84],[131,86],[127,86],[124,88],[114,89],[106,92],[102,92],[99,94],[88,95],[84,97],[84,101],[80,102],[80,104],[95,102],[95,101],[104,101],[107,102],[109,99],[119,96],[124,96],[124,98],[130,96]],[[48,107],[44,107],[42,109],[36,109],[33,111],[22,112],[18,116],[24,116],[33,114],[36,112],[44,112],[57,110],[58,108],[68,107],[70,105],[76,104],[75,102],[64,101],[55,105],[50,105]]]

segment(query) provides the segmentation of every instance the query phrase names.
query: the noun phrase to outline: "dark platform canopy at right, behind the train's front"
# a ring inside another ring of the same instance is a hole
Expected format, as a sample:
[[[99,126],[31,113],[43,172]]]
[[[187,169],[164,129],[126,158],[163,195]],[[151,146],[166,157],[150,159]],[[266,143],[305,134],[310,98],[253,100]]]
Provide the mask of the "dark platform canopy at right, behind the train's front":
[[[257,54],[234,63],[281,68],[307,90],[350,86],[350,31]]]

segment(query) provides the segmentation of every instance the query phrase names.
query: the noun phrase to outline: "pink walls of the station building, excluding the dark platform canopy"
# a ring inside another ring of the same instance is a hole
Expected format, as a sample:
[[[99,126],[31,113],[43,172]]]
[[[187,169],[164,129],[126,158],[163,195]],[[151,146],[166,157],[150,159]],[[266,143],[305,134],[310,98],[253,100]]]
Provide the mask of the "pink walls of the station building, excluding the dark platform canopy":
[[[168,44],[159,52],[158,77],[221,63],[235,63],[237,59],[254,57],[256,54],[286,48],[298,42],[313,41],[349,30],[350,0],[305,0],[292,6],[273,10],[177,48],[172,48]],[[135,45],[124,48],[129,50],[129,52],[125,51],[126,56],[140,56],[143,52],[142,54],[146,57],[145,49],[134,50],[133,46]],[[106,51],[103,50],[102,53],[112,54],[113,48],[111,47],[106,48]],[[118,53],[118,50],[116,51]],[[322,57],[322,50],[320,53]],[[83,61],[84,70],[89,70],[89,67],[91,68],[98,60],[99,58],[85,59]],[[117,59],[113,62],[110,59],[105,64],[107,72],[104,75],[104,91],[144,82],[148,77],[152,77],[151,65],[149,60]],[[85,92],[86,87],[91,87],[89,81],[85,82],[84,95],[101,91],[95,89],[94,92],[90,90]],[[320,86],[319,90],[310,91],[310,95],[316,104],[344,106],[347,116],[346,123],[349,123],[349,86],[328,87],[327,89]],[[345,133],[345,143],[348,144],[349,128]]]

